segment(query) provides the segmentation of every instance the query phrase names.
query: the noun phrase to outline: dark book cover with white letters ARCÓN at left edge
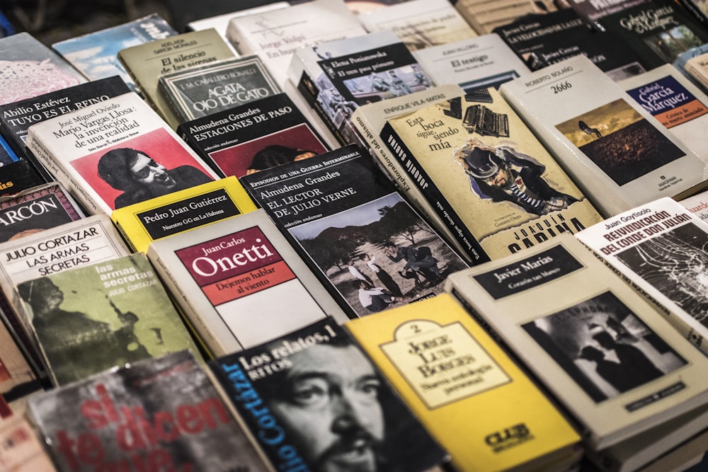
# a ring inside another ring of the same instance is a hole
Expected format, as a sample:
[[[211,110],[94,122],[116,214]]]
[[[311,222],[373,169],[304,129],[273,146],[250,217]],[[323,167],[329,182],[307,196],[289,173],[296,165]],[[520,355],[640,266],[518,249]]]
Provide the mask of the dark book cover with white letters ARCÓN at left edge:
[[[0,199],[0,243],[83,218],[84,211],[64,185],[39,185]]]

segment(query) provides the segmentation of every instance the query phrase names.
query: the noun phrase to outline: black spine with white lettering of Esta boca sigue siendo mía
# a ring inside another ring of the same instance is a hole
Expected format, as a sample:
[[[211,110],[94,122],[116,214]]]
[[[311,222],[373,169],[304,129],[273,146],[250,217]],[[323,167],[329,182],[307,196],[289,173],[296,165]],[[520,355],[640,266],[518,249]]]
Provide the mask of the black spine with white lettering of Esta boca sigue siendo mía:
[[[413,156],[411,150],[408,149],[389,123],[384,125],[380,136],[382,141],[392,151],[392,154],[398,159],[401,164],[401,170],[407,173],[413,185],[416,185],[416,188],[421,191],[421,194],[428,200],[438,217],[442,219],[445,226],[455,236],[457,243],[462,246],[465,254],[467,254],[470,263],[476,265],[489,261],[489,255],[484,252],[479,241],[464,225],[462,219],[457,216],[457,212],[452,209],[452,206],[442,196],[435,183],[430,180],[430,177]]]

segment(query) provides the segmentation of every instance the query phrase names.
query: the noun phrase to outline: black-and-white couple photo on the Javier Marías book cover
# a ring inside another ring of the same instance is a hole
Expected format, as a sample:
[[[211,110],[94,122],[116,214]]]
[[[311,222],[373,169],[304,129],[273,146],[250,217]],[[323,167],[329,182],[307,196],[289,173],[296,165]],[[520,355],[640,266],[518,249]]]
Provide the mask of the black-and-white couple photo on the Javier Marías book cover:
[[[686,364],[612,292],[523,325],[595,403]]]

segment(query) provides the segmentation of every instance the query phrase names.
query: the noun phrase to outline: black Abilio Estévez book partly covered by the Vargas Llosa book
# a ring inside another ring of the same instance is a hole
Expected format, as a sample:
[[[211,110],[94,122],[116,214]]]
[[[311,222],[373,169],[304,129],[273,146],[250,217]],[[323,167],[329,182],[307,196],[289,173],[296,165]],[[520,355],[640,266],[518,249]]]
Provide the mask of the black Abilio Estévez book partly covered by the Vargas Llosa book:
[[[31,160],[33,156],[25,152],[27,130],[31,125],[129,91],[119,76],[111,76],[0,105],[0,134],[8,139],[8,144],[17,154]],[[45,171],[45,178],[51,180],[52,175]]]

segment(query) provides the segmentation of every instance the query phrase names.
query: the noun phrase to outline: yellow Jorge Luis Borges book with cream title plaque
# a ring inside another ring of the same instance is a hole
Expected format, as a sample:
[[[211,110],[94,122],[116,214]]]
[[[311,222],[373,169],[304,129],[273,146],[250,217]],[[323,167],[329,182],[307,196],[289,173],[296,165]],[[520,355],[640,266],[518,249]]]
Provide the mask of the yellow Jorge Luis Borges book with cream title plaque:
[[[579,461],[573,426],[450,294],[344,328],[450,453],[455,470],[541,471]]]

